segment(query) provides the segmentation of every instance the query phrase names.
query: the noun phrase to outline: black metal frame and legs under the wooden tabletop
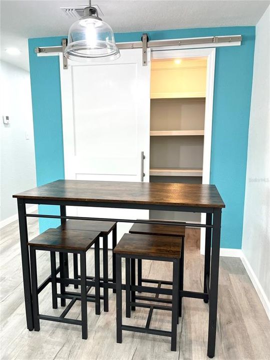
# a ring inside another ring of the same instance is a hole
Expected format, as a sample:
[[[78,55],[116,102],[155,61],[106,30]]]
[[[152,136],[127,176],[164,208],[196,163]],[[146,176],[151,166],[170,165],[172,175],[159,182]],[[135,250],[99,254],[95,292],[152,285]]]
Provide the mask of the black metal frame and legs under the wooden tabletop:
[[[60,206],[60,215],[45,215],[45,214],[28,214],[26,213],[27,204],[42,204],[42,205],[58,205]],[[33,316],[32,316],[32,293],[31,293],[31,279],[29,266],[29,251],[27,246],[28,232],[27,232],[27,217],[42,217],[42,218],[59,218],[61,223],[66,219],[80,219],[80,220],[102,220],[102,221],[117,221],[117,222],[131,222],[131,223],[158,223],[171,224],[183,226],[183,223],[168,221],[168,220],[134,220],[134,219],[118,219],[118,218],[96,218],[96,217],[82,217],[82,216],[66,216],[65,206],[90,206],[90,207],[111,207],[111,208],[133,208],[146,210],[165,210],[165,211],[185,211],[185,212],[203,212],[206,213],[206,223],[186,223],[192,227],[205,227],[205,255],[204,255],[204,284],[203,292],[182,291],[182,296],[202,298],[204,302],[209,301],[209,319],[208,319],[208,357],[214,356],[215,350],[215,335],[216,335],[216,314],[217,314],[217,292],[218,292],[218,269],[219,269],[219,249],[220,249],[220,226],[221,226],[221,208],[220,207],[202,207],[202,206],[177,206],[177,205],[160,205],[160,204],[144,204],[132,202],[106,202],[106,201],[83,201],[83,200],[49,200],[49,199],[32,199],[32,198],[17,198],[18,204],[18,220],[19,220],[19,234],[20,234],[20,248],[22,260],[22,274],[23,274],[23,289],[24,301],[26,310],[26,322],[28,330],[33,330]],[[113,268],[115,269],[115,257],[113,256]],[[111,280],[111,279],[110,279]],[[40,286],[41,291],[44,286],[50,281],[48,278]],[[114,278],[113,278],[114,281]],[[87,281],[90,285],[91,281]],[[102,286],[102,285],[101,285]],[[115,283],[107,283],[106,286],[115,289]],[[139,287],[139,286],[137,286]],[[143,286],[144,287],[144,286]],[[151,292],[149,286],[149,292]],[[166,293],[166,289],[163,289]]]

